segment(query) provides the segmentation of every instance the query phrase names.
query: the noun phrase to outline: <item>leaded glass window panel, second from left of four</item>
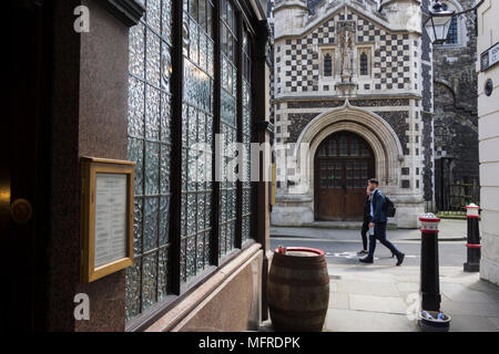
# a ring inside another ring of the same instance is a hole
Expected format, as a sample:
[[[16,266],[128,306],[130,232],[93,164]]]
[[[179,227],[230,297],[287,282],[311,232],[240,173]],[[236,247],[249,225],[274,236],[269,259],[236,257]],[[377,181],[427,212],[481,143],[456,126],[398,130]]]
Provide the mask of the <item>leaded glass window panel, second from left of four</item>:
[[[210,266],[214,115],[213,2],[184,1],[181,281]],[[185,33],[186,32],[186,33]]]

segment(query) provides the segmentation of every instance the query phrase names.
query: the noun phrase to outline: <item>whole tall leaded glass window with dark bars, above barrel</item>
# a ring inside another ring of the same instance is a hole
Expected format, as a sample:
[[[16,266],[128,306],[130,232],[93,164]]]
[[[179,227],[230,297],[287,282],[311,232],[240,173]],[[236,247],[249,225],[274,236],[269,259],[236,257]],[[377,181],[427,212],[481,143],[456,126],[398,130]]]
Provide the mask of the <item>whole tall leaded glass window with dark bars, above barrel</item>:
[[[237,155],[231,143],[249,150],[252,142],[251,27],[228,0],[144,3],[144,17],[130,31],[129,159],[136,171],[129,322],[182,295],[252,239],[252,184],[236,181],[243,167],[231,167]],[[179,45],[175,19],[182,22]],[[182,71],[181,92],[171,83],[173,67]],[[215,181],[218,127],[225,156]],[[249,157],[243,165],[249,176]]]

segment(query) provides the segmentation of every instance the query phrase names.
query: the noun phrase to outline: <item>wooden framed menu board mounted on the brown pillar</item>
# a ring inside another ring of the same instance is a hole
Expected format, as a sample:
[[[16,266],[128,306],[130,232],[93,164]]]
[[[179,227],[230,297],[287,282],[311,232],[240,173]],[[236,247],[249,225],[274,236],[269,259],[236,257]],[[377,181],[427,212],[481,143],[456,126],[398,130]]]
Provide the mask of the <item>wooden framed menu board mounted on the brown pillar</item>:
[[[133,264],[135,163],[82,158],[81,281]]]

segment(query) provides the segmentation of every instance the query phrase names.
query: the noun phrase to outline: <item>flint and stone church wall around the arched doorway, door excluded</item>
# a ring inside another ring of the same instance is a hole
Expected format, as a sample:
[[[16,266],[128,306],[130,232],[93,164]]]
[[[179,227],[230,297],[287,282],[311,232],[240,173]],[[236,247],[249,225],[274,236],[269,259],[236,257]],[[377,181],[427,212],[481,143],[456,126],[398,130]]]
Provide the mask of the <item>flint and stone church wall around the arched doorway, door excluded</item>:
[[[346,104],[376,116],[373,127],[387,123],[400,152],[395,149],[388,157],[394,173],[381,171],[376,177],[398,204],[400,212],[393,221],[399,227],[417,227],[424,191],[432,199],[432,66],[429,45],[421,41],[418,10],[418,1],[394,1],[378,11],[375,1],[337,0],[276,1],[274,12],[275,143],[303,143],[301,136],[318,116],[327,119],[328,113]],[[344,21],[354,22],[356,31],[354,85],[346,88],[338,67],[338,29]],[[358,71],[363,49],[369,53],[368,75]],[[324,75],[327,53],[333,56],[333,75],[328,77]],[[313,192],[296,194],[288,183],[304,174],[299,162],[294,166],[286,160],[293,149],[288,146],[286,152],[276,153],[275,225],[314,221]]]

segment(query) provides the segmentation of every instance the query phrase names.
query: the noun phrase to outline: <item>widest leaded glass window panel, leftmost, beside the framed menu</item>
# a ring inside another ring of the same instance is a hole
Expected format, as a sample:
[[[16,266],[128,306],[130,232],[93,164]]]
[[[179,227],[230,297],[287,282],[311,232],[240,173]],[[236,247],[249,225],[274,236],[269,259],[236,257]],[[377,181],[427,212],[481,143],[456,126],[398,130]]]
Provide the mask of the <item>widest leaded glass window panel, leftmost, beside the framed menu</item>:
[[[170,292],[171,7],[172,0],[147,0],[130,31],[129,159],[136,170],[128,320]]]

